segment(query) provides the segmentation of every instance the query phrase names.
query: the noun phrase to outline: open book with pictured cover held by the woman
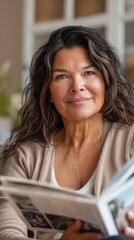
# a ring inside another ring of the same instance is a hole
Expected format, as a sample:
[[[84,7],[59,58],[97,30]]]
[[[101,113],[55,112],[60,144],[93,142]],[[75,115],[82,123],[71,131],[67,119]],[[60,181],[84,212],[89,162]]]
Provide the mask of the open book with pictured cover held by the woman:
[[[99,198],[39,181],[0,177],[0,191],[28,229],[64,231],[81,219],[82,231],[118,234],[129,223],[126,212],[134,211],[134,158],[111,179]]]

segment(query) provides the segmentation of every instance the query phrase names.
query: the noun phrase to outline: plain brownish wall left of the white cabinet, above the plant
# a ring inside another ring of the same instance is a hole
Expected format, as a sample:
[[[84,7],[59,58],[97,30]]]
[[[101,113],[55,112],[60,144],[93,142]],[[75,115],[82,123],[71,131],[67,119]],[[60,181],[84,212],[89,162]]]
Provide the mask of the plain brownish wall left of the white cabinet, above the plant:
[[[21,84],[23,0],[0,0],[0,68],[11,62],[12,91]]]

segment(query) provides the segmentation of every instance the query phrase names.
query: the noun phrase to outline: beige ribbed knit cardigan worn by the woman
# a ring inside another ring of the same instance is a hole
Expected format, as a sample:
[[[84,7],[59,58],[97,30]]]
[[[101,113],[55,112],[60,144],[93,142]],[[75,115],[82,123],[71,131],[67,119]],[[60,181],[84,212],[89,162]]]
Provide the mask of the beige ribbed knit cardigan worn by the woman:
[[[119,123],[105,122],[102,145],[93,187],[93,194],[96,196],[100,195],[115,172],[134,156],[134,125],[125,126]],[[43,148],[37,143],[26,142],[18,148],[14,156],[7,160],[4,174],[50,182],[54,149],[53,145]],[[1,199],[0,204],[0,239],[29,239],[25,224],[5,199]],[[52,240],[54,235],[39,233],[38,239]]]

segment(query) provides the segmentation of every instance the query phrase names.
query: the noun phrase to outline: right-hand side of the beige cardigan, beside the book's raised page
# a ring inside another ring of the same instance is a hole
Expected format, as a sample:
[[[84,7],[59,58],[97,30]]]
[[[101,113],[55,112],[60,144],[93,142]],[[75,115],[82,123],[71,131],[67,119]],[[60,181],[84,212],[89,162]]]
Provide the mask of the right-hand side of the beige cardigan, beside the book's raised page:
[[[96,172],[97,194],[134,157],[134,125],[105,122],[103,131],[102,151]]]

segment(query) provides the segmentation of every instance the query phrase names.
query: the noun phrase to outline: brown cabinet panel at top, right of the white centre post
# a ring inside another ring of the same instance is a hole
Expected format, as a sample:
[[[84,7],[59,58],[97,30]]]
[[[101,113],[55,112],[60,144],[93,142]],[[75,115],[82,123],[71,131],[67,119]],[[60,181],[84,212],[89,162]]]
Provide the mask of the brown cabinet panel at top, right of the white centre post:
[[[105,12],[105,0],[75,0],[75,17]]]

